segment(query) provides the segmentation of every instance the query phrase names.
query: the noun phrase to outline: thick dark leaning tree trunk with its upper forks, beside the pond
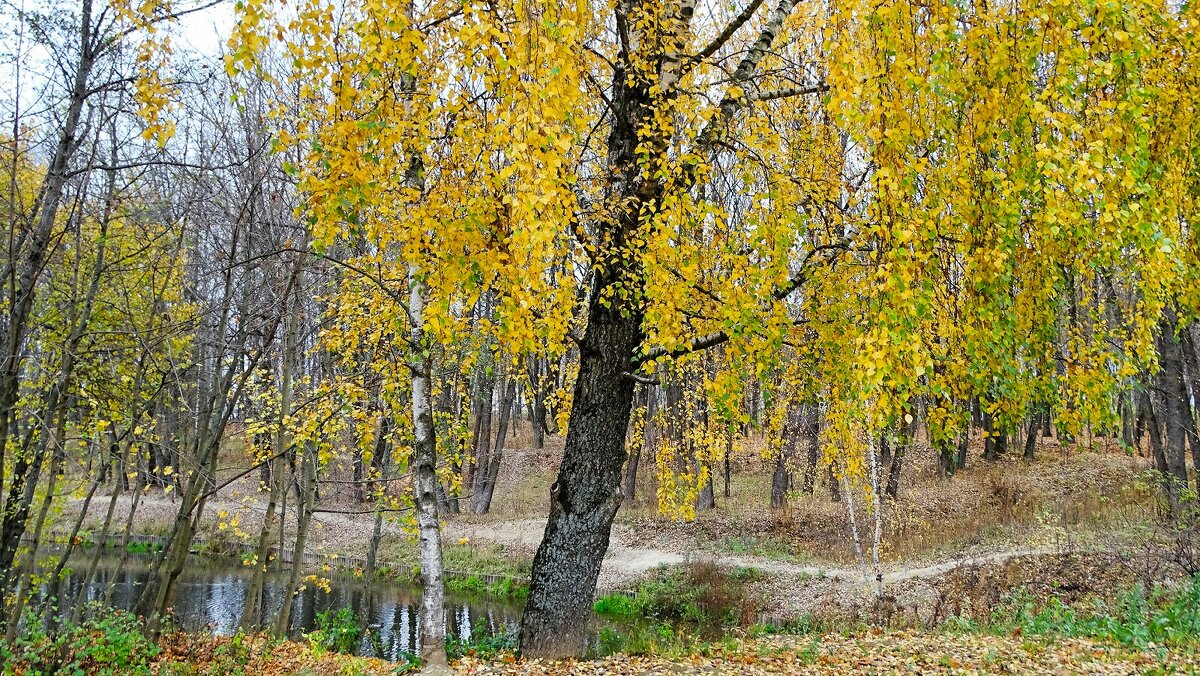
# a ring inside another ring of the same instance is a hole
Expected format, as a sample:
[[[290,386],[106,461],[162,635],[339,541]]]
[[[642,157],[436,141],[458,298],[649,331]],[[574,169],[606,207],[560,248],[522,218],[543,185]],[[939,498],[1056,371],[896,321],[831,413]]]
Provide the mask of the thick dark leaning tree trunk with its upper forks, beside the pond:
[[[781,0],[760,29],[760,36],[733,73],[736,85],[749,85],[762,55],[796,0]],[[688,20],[694,4],[684,4],[674,22],[677,40],[661,41],[664,34],[643,20],[643,10],[658,8],[647,0],[613,6],[617,25],[634,34],[626,44],[640,54],[616,56],[608,96],[611,127],[606,143],[606,189],[608,216],[594,225],[602,263],[592,273],[587,303],[587,324],[578,341],[578,373],[572,388],[572,408],[566,445],[558,478],[551,485],[550,518],[534,557],[529,599],[521,620],[521,652],[526,657],[575,657],[583,652],[589,632],[600,563],[608,549],[612,520],[622,501],[620,479],[625,461],[625,435],[634,402],[629,371],[644,340],[642,327],[643,291],[641,269],[646,234],[654,227],[665,187],[656,172],[647,172],[643,158],[666,156],[671,139],[644,130],[661,128],[661,96],[674,95],[683,46],[690,34]],[[664,42],[666,48],[655,47]],[[660,68],[649,72],[630,67],[631,60],[661,58]],[[724,136],[740,96],[726,96],[719,119],[704,122],[697,136],[697,152],[707,155]],[[706,140],[701,140],[706,139]],[[683,179],[686,183],[686,178]],[[678,187],[678,185],[676,186]],[[686,186],[684,186],[686,187]],[[653,234],[653,233],[652,233]],[[564,369],[559,369],[562,376]]]

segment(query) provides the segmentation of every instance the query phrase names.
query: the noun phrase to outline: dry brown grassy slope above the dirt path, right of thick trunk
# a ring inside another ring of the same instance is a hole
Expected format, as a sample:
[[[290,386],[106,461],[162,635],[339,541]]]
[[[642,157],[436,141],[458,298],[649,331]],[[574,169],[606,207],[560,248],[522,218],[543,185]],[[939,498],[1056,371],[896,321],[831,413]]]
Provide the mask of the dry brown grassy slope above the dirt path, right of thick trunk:
[[[1080,448],[1043,439],[1033,462],[1015,454],[985,462],[979,454],[972,448],[968,466],[942,479],[928,445],[910,453],[900,499],[884,505],[886,561],[944,558],[1001,543],[1067,550],[1134,531],[1154,515],[1156,493],[1138,479],[1146,461],[1115,443]],[[833,502],[823,481],[815,495],[793,492],[786,508],[770,510],[770,467],[749,453],[734,468],[731,498],[722,498],[720,477],[716,489],[718,508],[689,524],[658,516],[649,501],[623,508],[618,519],[632,526],[641,544],[664,549],[714,549],[715,543],[730,554],[854,562],[845,503]],[[752,551],[762,542],[770,551]]]

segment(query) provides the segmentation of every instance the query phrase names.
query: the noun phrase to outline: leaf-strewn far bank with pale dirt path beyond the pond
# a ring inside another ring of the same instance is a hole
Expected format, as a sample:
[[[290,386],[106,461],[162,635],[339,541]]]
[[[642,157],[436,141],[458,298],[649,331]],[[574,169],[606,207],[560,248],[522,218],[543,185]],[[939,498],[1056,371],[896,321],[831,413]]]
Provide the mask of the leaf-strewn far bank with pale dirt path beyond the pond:
[[[516,445],[522,445],[520,437]],[[541,450],[505,451],[491,513],[445,522],[449,569],[528,573],[545,528],[545,503],[559,454],[560,439],[551,439]],[[1000,593],[1030,585],[1078,590],[1084,598],[1181,576],[1153,544],[1157,499],[1154,489],[1140,478],[1145,459],[1109,441],[1068,447],[1052,438],[1043,439],[1033,462],[977,457],[972,454],[967,468],[942,479],[928,448],[918,445],[910,453],[900,498],[884,507],[880,574],[888,608],[882,612],[901,620],[894,623],[932,627],[962,612],[964,604],[986,608],[998,603]],[[230,457],[228,465],[236,462]],[[880,615],[868,584],[875,578],[871,552],[863,552],[864,566],[848,537],[846,504],[830,499],[827,487],[820,486],[816,495],[792,493],[786,508],[768,509],[769,467],[752,445],[739,448],[731,497],[724,496],[718,474],[718,507],[692,521],[677,521],[656,514],[652,472],[642,474],[640,499],[629,501],[613,526],[600,593],[630,588],[664,566],[708,561],[762,573],[749,584],[766,617],[816,611],[850,618]],[[372,516],[347,513],[366,507],[341,484],[323,491],[310,551],[364,556]],[[131,502],[127,496],[118,498],[114,524],[124,524]],[[71,501],[54,530],[68,530],[80,505],[82,501]],[[137,531],[164,533],[175,507],[174,495],[145,493]],[[96,530],[107,508],[108,499],[96,497],[85,530]],[[200,532],[210,542],[251,542],[262,515],[256,474],[233,481],[209,501]],[[415,563],[415,545],[402,522],[388,522],[384,533],[380,562]],[[980,581],[986,582],[989,598],[978,598]]]

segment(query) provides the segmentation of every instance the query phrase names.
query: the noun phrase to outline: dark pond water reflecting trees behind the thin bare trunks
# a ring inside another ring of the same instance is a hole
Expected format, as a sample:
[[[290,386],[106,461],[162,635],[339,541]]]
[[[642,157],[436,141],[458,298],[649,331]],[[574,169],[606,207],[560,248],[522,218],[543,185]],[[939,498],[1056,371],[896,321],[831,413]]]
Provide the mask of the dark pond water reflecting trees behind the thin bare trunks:
[[[104,552],[92,580],[84,587],[83,572],[91,552],[68,560],[70,574],[60,587],[59,608],[70,615],[76,604],[101,602],[109,585],[114,585],[114,608],[132,610],[149,580],[151,557],[130,555],[120,567],[116,554]],[[394,581],[367,580],[353,575],[325,574],[329,591],[306,585],[293,602],[289,635],[301,639],[317,628],[317,614],[349,608],[376,634],[364,635],[359,654],[397,659],[402,652],[420,648],[418,617],[421,588]],[[252,584],[252,572],[236,561],[193,555],[176,586],[175,622],[190,632],[210,632],[229,635],[238,632],[246,592]],[[280,608],[287,573],[271,572],[264,585],[264,608],[270,617]],[[43,588],[43,593],[48,590]],[[446,593],[446,634],[463,640],[481,635],[512,632],[521,621],[521,604],[480,594]]]

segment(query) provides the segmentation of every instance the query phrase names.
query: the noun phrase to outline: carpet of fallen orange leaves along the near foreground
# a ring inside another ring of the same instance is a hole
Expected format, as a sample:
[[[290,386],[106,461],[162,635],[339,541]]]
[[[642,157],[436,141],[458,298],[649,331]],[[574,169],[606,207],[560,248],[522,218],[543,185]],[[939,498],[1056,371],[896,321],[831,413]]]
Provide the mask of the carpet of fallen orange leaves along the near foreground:
[[[251,638],[229,650],[228,638],[166,636],[151,668],[157,674],[397,674],[373,658],[313,652],[296,642]],[[247,648],[253,650],[247,650]],[[241,653],[239,656],[239,653]],[[241,657],[244,656],[244,657]],[[241,657],[241,658],[240,658]],[[1135,650],[1085,639],[1038,640],[988,634],[872,632],[744,639],[671,656],[613,654],[595,660],[467,657],[454,674],[1195,674],[1194,651]]]

